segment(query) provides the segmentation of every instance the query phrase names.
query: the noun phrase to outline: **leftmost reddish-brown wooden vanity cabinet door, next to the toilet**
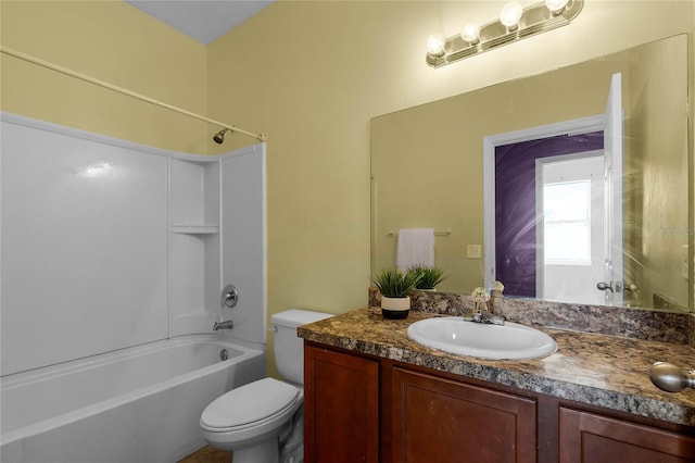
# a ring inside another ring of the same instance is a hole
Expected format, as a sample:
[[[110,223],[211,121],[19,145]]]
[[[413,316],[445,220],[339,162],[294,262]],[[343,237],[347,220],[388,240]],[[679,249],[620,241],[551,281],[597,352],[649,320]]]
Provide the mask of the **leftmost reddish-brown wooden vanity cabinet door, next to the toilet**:
[[[379,363],[304,348],[306,463],[379,461]]]

